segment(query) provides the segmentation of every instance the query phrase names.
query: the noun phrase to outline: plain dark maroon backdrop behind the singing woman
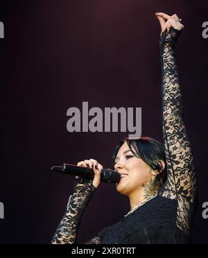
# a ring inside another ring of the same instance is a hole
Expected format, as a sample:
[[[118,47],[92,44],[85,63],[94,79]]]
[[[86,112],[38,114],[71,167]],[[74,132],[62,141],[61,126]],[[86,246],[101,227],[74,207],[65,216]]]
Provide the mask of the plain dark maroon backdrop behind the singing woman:
[[[184,121],[198,172],[199,208],[193,243],[208,243],[206,0],[1,1],[0,243],[50,243],[72,191],[73,177],[50,166],[94,158],[112,168],[120,132],[69,133],[67,109],[142,107],[142,135],[162,140],[160,26],[155,12],[177,13],[184,32],[177,60]],[[78,243],[119,221],[128,198],[114,184],[96,190]]]

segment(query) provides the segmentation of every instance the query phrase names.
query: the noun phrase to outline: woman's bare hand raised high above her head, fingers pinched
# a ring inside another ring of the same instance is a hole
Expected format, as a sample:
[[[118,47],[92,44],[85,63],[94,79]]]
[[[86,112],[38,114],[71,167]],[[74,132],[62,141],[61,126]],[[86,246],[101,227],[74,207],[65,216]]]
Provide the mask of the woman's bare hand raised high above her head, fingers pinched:
[[[157,16],[157,19],[159,19],[159,23],[162,29],[160,35],[162,35],[162,33],[164,33],[166,30],[169,31],[171,27],[178,31],[182,31],[184,28],[183,24],[180,23],[182,19],[179,19],[177,15],[170,16],[166,15],[164,12],[156,12],[155,15]]]

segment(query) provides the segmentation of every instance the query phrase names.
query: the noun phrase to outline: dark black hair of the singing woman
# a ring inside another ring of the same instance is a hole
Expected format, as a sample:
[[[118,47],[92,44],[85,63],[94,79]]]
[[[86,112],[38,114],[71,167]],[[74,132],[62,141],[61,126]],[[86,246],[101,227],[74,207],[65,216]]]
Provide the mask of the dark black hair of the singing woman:
[[[113,163],[115,164],[116,155],[119,152],[119,148],[125,143],[132,151],[135,157],[139,157],[141,160],[146,162],[152,169],[159,171],[157,179],[164,184],[166,182],[167,173],[166,166],[163,171],[161,171],[162,166],[159,164],[159,160],[163,160],[166,164],[166,155],[164,150],[164,144],[153,138],[143,136],[138,139],[129,139],[128,137],[119,141],[119,144],[114,149],[113,153]],[[133,147],[133,148],[132,148]],[[135,150],[134,150],[135,149]]]

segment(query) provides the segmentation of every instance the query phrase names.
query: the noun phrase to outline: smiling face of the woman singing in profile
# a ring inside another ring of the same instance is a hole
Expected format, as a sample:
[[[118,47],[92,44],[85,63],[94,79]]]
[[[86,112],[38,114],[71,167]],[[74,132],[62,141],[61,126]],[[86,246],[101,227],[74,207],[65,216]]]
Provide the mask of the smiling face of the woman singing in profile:
[[[119,149],[115,162],[114,169],[121,174],[127,174],[121,178],[119,184],[116,184],[119,193],[129,196],[138,191],[143,184],[150,182],[152,176],[150,166],[132,154],[126,141]]]

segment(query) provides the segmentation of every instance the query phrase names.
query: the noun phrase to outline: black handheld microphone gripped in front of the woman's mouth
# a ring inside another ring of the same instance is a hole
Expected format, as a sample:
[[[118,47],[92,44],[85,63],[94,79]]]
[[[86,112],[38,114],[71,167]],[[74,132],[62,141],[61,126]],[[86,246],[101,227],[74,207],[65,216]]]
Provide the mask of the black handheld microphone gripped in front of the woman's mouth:
[[[93,179],[94,171],[91,168],[83,166],[75,166],[64,163],[62,166],[52,166],[51,171],[59,172],[65,175],[78,175],[80,178]],[[101,170],[101,182],[105,183],[119,183],[121,175],[118,171],[112,169]]]

